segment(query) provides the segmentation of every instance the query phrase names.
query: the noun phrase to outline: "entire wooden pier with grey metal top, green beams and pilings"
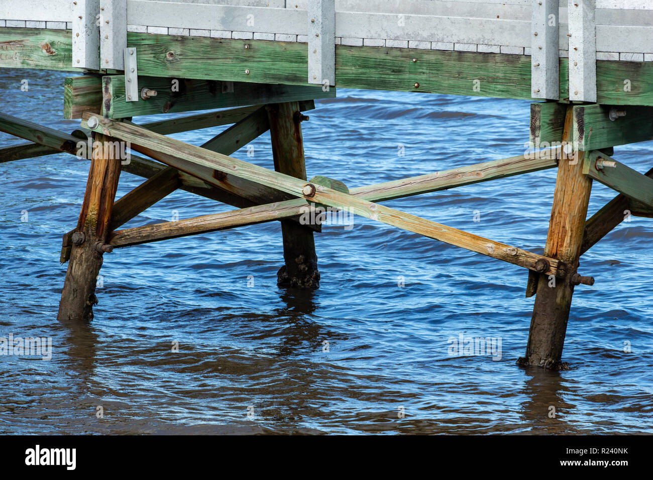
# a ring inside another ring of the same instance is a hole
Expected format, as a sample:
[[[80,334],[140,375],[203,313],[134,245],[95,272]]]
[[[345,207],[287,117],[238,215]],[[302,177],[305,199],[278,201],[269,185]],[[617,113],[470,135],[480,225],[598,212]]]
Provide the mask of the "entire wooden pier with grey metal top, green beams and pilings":
[[[0,163],[91,161],[62,232],[61,321],[93,317],[104,253],[268,221],[281,222],[279,285],[316,288],[321,226],[302,213],[328,206],[526,268],[535,305],[518,362],[565,368],[573,291],[594,283],[582,253],[629,215],[653,217],[653,169],[613,158],[653,138],[653,0],[3,0],[0,67],[71,72],[63,116],[79,129],[0,113],[0,131],[27,140]],[[337,88],[530,99],[532,150],[364,187],[308,180],[302,123]],[[217,111],[132,121],[197,110]],[[168,136],[229,124],[201,146]],[[231,156],[268,130],[270,168]],[[543,255],[379,204],[545,168],[558,174]],[[121,171],[146,180],[116,200]],[[618,195],[588,219],[594,180]],[[121,229],[176,189],[236,210]]]

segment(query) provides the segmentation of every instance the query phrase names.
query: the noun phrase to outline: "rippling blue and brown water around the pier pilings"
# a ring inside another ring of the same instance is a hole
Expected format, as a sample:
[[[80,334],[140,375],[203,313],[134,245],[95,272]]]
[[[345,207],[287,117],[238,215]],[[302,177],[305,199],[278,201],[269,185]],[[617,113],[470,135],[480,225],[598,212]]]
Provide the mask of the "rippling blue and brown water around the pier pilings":
[[[1,71],[0,111],[78,128],[60,120],[64,77]],[[316,105],[302,125],[308,176],[349,187],[519,155],[528,141],[528,101],[343,89]],[[174,136],[200,144],[221,129]],[[19,142],[0,133],[0,147]],[[271,168],[269,142],[234,156]],[[644,172],[653,142],[614,157]],[[0,432],[653,432],[651,219],[632,217],[582,257],[596,283],[576,288],[571,370],[554,373],[515,364],[534,302],[526,270],[361,217],[315,235],[312,292],[276,285],[278,222],[117,249],[93,322],[65,327],[61,235],[88,168],[65,154],[0,163],[0,336],[53,345],[50,361],[0,356]],[[140,182],[123,173],[118,196]],[[545,170],[385,204],[541,253],[554,183]],[[614,195],[595,183],[590,214]],[[127,226],[229,209],[176,191]],[[501,339],[500,359],[450,355],[460,334]]]

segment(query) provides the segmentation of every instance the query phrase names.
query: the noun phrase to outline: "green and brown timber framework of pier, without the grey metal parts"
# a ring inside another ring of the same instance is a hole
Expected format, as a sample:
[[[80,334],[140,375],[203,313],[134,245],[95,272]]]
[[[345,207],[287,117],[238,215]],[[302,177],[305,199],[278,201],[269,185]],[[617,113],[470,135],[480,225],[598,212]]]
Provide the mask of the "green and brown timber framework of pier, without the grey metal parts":
[[[334,97],[336,88],[532,99],[530,56],[341,44],[336,45],[334,85],[319,86],[307,82],[308,54],[306,44],[299,42],[129,32],[127,48],[138,52],[142,95],[133,101],[126,91],[129,72],[71,66],[71,30],[0,27],[0,48],[0,67],[78,73],[63,86],[63,111],[65,118],[82,118],[80,129],[65,133],[0,114],[0,131],[28,141],[1,148],[0,163],[57,152],[91,161],[78,225],[63,236],[61,262],[69,266],[61,321],[93,317],[95,279],[104,253],[268,221],[282,226],[285,264],[279,269],[279,285],[316,288],[320,276],[313,236],[321,232],[321,213],[328,207],[526,268],[526,296],[536,297],[526,355],[519,362],[564,368],[562,347],[573,291],[581,283],[594,283],[582,274],[586,272],[578,272],[579,258],[629,215],[653,217],[653,170],[641,174],[611,157],[614,146],[653,138],[650,61],[597,60],[596,103],[570,103],[568,59],[560,58],[560,99],[532,104],[532,152],[350,189],[327,176],[306,177],[301,126],[316,99]],[[142,115],[217,108],[229,110],[144,124],[132,121]],[[167,136],[229,124],[201,146]],[[230,156],[266,131],[274,166],[263,168]],[[122,144],[139,155],[124,157],[117,147]],[[381,204],[545,168],[557,168],[558,175],[542,255]],[[146,180],[116,200],[121,170]],[[592,180],[618,195],[586,219]],[[121,229],[176,189],[236,209]]]

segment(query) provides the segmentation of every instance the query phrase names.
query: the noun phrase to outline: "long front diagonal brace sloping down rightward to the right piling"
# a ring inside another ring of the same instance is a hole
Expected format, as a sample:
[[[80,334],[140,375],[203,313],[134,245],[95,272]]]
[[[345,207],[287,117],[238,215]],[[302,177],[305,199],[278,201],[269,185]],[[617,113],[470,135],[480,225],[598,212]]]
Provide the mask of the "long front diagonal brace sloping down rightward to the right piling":
[[[406,214],[392,208],[358,199],[339,191],[328,189],[322,185],[313,185],[294,177],[268,170],[242,160],[210,152],[206,149],[185,144],[163,135],[158,135],[113,120],[98,118],[92,114],[84,114],[82,125],[88,127],[88,119],[95,118],[93,131],[119,138],[131,143],[137,152],[156,150],[165,155],[174,155],[189,163],[197,163],[208,168],[230,172],[252,182],[276,188],[295,197],[306,198],[334,208],[347,209],[352,213],[368,217],[388,225],[422,234],[435,240],[440,240],[462,248],[482,253],[489,257],[501,259],[531,270],[555,276],[564,275],[564,267],[556,259],[549,259],[522,249],[511,247],[500,242],[494,242],[468,232],[463,232],[446,225],[428,221],[417,216]]]

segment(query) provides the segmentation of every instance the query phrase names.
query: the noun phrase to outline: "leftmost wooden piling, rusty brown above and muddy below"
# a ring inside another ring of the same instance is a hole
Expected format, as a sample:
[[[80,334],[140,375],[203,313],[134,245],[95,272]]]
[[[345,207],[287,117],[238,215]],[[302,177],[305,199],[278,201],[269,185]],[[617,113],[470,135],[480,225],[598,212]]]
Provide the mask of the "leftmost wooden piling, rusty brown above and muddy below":
[[[111,212],[118,188],[121,161],[119,152],[108,148],[113,139],[96,133],[95,142],[102,149],[93,150],[91,168],[76,232],[72,236],[71,258],[59,303],[59,321],[90,321],[93,318],[95,282],[102,266],[103,253],[111,247],[104,244],[111,221]]]

